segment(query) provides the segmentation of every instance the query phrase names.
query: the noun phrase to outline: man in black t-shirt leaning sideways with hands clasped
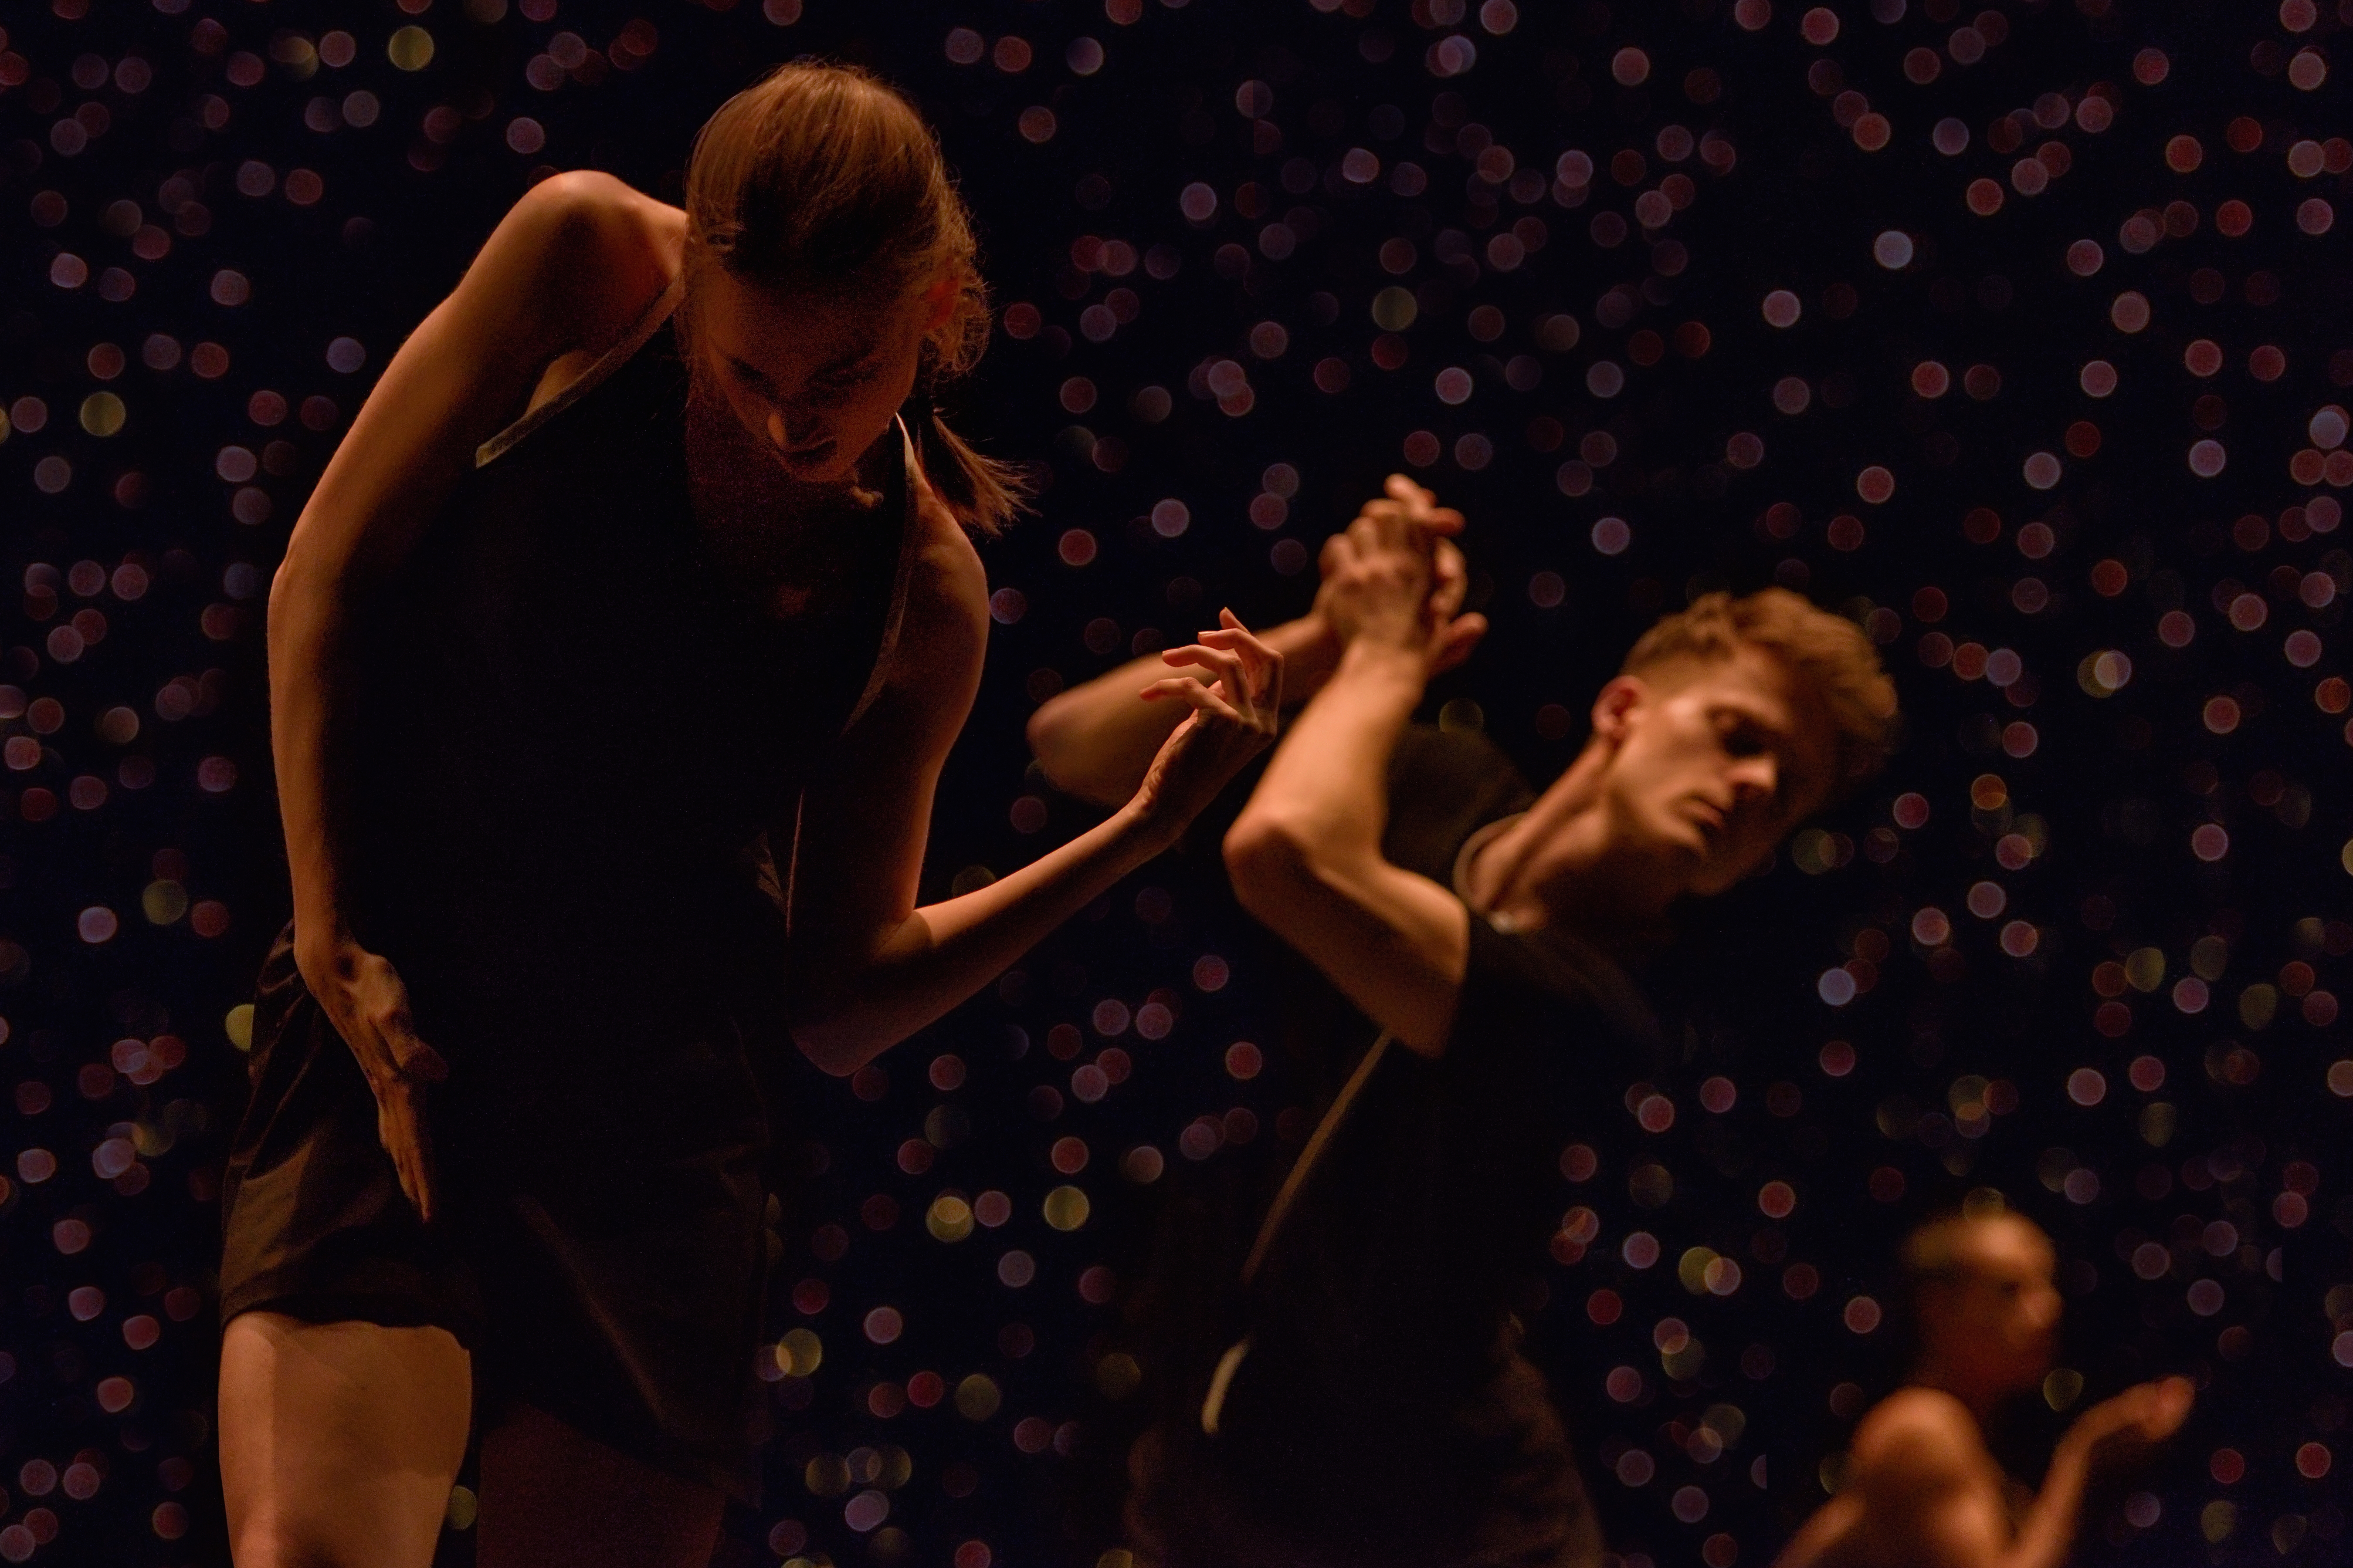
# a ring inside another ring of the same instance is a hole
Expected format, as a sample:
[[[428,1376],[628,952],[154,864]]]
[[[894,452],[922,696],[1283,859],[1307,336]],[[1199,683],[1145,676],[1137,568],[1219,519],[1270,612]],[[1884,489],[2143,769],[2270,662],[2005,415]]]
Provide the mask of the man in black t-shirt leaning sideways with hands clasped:
[[[1642,1072],[1619,959],[1887,743],[1894,691],[1852,623],[1781,590],[1708,595],[1635,644],[1584,752],[1532,795],[1489,743],[1409,726],[1478,635],[1454,527],[1393,482],[1325,548],[1313,616],[1278,632],[1322,639],[1322,661],[1285,646],[1322,686],[1226,865],[1360,1011],[1304,1044],[1362,1058],[1259,1232],[1240,1335],[1129,1460],[1129,1530],[1160,1568],[1600,1559],[1508,1307],[1544,1262],[1560,1145]],[[1073,715],[1134,675],[1040,712],[1049,776],[1118,771]]]

